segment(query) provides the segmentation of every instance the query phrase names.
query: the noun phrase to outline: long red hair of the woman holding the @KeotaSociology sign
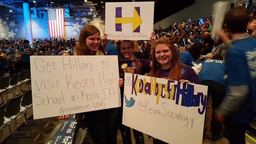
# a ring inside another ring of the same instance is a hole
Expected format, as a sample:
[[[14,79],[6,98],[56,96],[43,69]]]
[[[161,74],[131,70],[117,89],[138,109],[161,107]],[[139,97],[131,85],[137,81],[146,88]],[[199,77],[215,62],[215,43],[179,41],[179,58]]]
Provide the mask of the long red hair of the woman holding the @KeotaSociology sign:
[[[167,45],[170,50],[171,50],[171,54],[172,54],[172,58],[171,58],[171,71],[169,72],[168,75],[168,79],[171,80],[180,80],[182,77],[182,73],[181,73],[181,63],[179,62],[179,54],[178,52],[175,50],[174,48],[174,44],[173,41],[171,40],[171,38],[160,38],[159,40],[156,41],[153,50],[152,50],[152,63],[153,63],[153,67],[150,71],[150,73],[148,74],[148,76],[153,76],[153,77],[158,77],[159,73],[158,73],[158,69],[161,68],[161,65],[159,64],[159,62],[157,62],[156,60],[156,46],[159,44],[165,44]]]

